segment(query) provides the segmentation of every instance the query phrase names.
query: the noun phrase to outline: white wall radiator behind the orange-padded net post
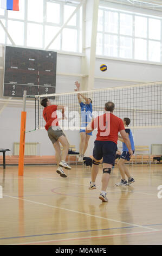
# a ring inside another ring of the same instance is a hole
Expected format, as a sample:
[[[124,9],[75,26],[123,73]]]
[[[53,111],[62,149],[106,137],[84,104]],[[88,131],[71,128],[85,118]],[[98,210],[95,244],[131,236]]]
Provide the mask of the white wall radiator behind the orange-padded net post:
[[[25,143],[25,156],[36,156],[38,155],[38,142],[27,142]],[[14,156],[19,155],[19,142],[14,142]]]

